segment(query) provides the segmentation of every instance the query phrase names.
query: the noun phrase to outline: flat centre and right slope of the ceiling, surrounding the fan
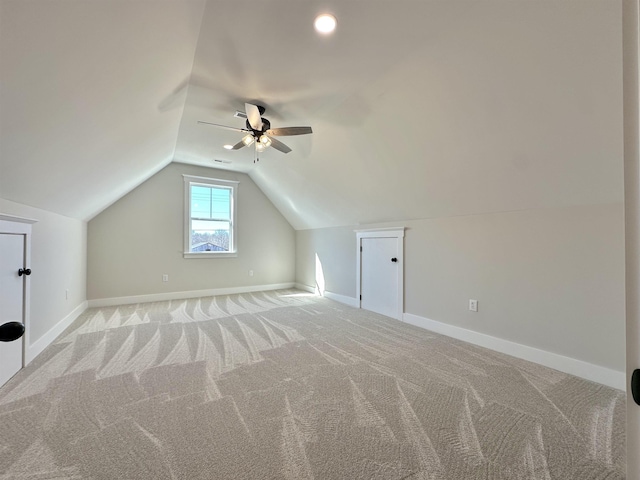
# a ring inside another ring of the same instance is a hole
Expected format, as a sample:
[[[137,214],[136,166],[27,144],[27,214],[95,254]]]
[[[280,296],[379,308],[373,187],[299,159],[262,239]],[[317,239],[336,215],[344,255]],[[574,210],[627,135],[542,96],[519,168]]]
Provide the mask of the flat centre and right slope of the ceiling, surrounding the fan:
[[[296,229],[619,202],[620,34],[606,3],[208,3],[176,160],[248,172]],[[314,133],[254,166],[197,123],[245,102]]]

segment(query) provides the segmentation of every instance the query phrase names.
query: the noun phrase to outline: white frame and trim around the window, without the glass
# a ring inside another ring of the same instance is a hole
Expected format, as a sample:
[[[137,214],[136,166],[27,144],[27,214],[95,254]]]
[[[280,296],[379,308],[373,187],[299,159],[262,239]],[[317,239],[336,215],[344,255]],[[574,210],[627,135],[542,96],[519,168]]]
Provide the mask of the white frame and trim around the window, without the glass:
[[[240,182],[234,180],[221,180],[218,178],[196,177],[182,175],[184,179],[184,258],[229,258],[238,256],[237,235],[237,197]],[[191,251],[191,186],[203,185],[207,187],[220,187],[231,189],[231,229],[229,235],[228,252],[192,252]]]

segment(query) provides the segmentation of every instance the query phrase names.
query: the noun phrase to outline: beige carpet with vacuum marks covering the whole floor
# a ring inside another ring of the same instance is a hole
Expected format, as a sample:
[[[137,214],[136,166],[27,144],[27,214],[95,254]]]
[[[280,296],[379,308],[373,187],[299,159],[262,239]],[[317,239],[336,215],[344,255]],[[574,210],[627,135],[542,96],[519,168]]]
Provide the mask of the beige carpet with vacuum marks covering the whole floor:
[[[0,389],[1,479],[624,478],[624,395],[299,291],[87,310]]]

